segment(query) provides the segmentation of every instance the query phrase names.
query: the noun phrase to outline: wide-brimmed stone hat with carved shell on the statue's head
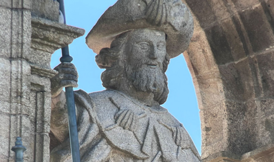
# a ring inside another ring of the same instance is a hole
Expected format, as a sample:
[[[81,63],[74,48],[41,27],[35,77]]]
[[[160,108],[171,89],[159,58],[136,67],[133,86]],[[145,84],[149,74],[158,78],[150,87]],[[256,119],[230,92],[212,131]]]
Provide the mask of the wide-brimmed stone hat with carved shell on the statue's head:
[[[142,28],[165,32],[167,53],[174,58],[188,48],[193,19],[181,0],[118,0],[97,21],[86,44],[99,54],[117,35]]]

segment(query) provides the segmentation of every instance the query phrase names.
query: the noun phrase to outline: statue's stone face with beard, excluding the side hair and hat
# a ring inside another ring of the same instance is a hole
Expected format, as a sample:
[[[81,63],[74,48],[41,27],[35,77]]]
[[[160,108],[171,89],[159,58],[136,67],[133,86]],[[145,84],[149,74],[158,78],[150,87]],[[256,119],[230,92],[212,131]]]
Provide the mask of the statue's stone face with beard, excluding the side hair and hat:
[[[126,75],[137,91],[160,95],[165,88],[163,61],[165,33],[152,29],[132,31],[126,44]]]

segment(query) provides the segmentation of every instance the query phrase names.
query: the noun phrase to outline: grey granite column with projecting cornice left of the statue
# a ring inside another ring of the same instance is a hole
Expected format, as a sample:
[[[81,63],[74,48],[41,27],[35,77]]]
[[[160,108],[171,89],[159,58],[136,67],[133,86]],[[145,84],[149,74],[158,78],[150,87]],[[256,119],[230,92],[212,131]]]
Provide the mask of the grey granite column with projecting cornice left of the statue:
[[[17,136],[25,161],[49,161],[51,54],[84,30],[59,24],[52,0],[0,1],[0,159],[13,161]]]

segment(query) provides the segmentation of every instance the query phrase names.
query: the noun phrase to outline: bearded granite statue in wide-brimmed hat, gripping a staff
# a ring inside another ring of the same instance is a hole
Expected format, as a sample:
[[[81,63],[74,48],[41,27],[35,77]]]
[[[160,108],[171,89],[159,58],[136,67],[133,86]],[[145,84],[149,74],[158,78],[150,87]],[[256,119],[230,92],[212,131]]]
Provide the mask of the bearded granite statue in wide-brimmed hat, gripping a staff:
[[[200,161],[184,129],[167,109],[165,71],[193,32],[190,12],[180,0],[118,0],[98,20],[87,44],[106,69],[106,90],[75,91],[81,161]],[[51,161],[71,161],[64,86],[77,86],[71,63],[54,68],[51,132],[61,143]]]

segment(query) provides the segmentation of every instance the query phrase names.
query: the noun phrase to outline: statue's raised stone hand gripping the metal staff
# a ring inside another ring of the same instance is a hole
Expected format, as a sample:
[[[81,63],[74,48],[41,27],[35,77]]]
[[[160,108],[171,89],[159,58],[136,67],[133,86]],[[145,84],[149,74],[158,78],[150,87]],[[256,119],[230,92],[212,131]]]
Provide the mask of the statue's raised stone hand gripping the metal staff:
[[[54,68],[58,74],[51,78],[51,95],[57,96],[64,87],[78,87],[78,73],[70,62],[62,62]]]

